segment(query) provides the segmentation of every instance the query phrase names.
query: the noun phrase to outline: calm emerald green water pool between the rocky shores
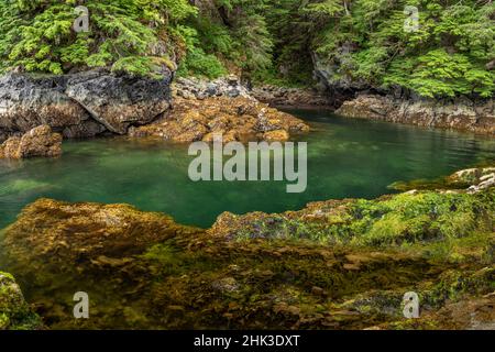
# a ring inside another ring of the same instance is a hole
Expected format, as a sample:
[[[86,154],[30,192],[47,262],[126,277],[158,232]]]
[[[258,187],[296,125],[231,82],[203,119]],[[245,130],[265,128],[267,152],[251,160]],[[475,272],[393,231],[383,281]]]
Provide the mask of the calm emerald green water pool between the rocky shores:
[[[187,146],[125,138],[65,142],[57,160],[0,161],[0,228],[40,197],[125,202],[209,227],[223,211],[280,212],[331,198],[374,198],[396,180],[435,178],[495,160],[495,140],[471,134],[293,111],[315,132],[308,142],[308,187],[284,182],[188,178]]]

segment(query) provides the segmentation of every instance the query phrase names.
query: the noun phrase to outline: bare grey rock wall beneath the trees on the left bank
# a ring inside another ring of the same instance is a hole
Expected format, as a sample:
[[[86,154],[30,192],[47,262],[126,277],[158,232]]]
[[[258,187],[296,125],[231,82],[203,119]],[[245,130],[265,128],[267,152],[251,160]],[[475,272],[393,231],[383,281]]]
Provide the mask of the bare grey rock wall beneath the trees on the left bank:
[[[42,124],[64,138],[125,134],[153,121],[170,106],[172,72],[161,80],[114,75],[105,69],[78,74],[0,77],[0,142]]]

